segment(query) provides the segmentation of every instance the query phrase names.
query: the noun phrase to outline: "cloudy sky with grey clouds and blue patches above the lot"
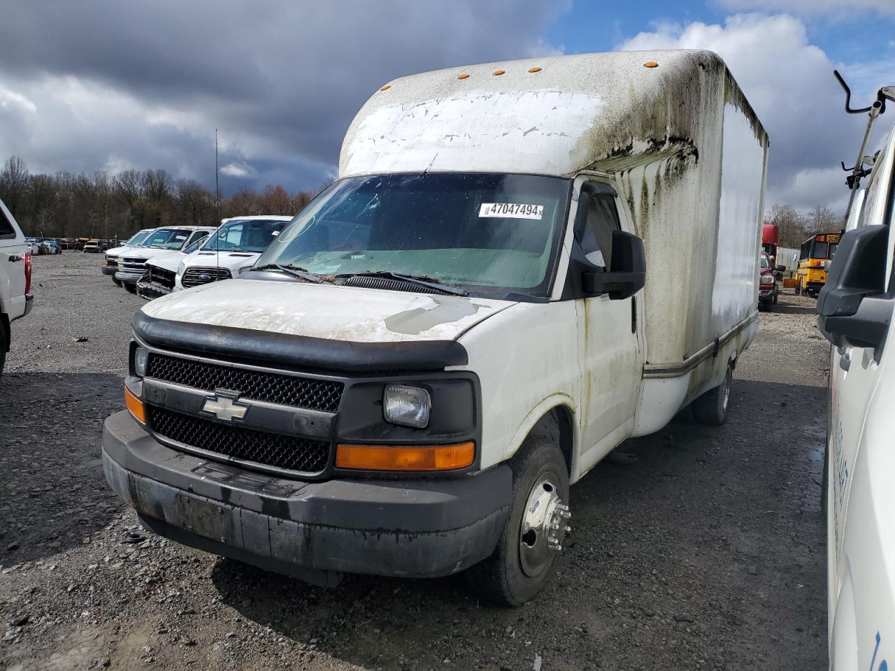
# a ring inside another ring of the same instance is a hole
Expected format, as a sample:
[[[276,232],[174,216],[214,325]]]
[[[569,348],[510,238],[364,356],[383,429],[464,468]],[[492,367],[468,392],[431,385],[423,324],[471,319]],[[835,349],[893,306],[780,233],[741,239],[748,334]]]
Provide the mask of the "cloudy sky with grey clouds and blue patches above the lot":
[[[769,204],[841,209],[839,161],[851,165],[865,119],[843,113],[831,71],[861,100],[895,84],[895,0],[0,0],[0,9],[0,161],[22,157],[31,172],[158,167],[213,185],[217,128],[226,191],[297,191],[335,176],[354,113],[396,76],[701,47],[728,62],[771,135]]]

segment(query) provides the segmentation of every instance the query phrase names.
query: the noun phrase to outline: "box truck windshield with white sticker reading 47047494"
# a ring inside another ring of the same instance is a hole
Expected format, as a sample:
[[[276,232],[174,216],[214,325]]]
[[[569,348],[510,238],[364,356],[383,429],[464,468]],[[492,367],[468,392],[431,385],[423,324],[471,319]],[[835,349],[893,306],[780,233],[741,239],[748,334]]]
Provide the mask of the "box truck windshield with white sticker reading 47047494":
[[[522,174],[388,174],[333,184],[256,267],[389,272],[476,293],[546,295],[570,182]]]

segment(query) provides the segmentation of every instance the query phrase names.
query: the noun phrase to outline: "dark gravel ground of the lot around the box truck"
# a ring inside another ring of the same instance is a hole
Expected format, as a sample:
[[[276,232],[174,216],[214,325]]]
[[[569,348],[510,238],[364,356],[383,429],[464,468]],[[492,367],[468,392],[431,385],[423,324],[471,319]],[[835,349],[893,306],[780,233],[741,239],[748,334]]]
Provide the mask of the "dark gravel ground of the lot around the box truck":
[[[320,590],[141,531],[99,461],[140,300],[98,263],[34,260],[0,378],[0,668],[826,667],[813,300],[761,314],[724,427],[675,420],[572,489],[558,574],[508,609],[462,576]]]

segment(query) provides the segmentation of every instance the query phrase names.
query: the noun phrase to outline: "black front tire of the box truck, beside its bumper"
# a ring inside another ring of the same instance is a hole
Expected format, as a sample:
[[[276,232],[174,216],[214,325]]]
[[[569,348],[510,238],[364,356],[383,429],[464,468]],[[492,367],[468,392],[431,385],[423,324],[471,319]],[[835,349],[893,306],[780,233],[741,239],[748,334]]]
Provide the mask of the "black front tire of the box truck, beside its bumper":
[[[526,440],[511,468],[512,505],[498,546],[491,556],[466,571],[466,579],[473,591],[501,606],[521,606],[541,591],[559,556],[558,550],[551,549],[548,542],[551,533],[548,526],[550,522],[558,522],[559,528],[567,529],[568,516],[566,459],[548,438]],[[540,497],[539,505],[528,505],[533,497]],[[546,510],[544,520],[547,523],[539,526],[537,531],[532,528],[523,533],[526,508]],[[552,533],[557,533],[561,539],[566,531]]]

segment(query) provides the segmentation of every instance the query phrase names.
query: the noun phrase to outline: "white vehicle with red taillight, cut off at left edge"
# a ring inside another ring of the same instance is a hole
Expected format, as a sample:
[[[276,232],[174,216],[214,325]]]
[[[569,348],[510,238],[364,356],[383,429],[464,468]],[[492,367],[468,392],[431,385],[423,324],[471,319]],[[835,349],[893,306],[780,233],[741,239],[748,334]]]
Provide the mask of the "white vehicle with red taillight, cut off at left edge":
[[[34,306],[31,252],[13,213],[0,200],[0,375],[12,342],[12,323]]]

